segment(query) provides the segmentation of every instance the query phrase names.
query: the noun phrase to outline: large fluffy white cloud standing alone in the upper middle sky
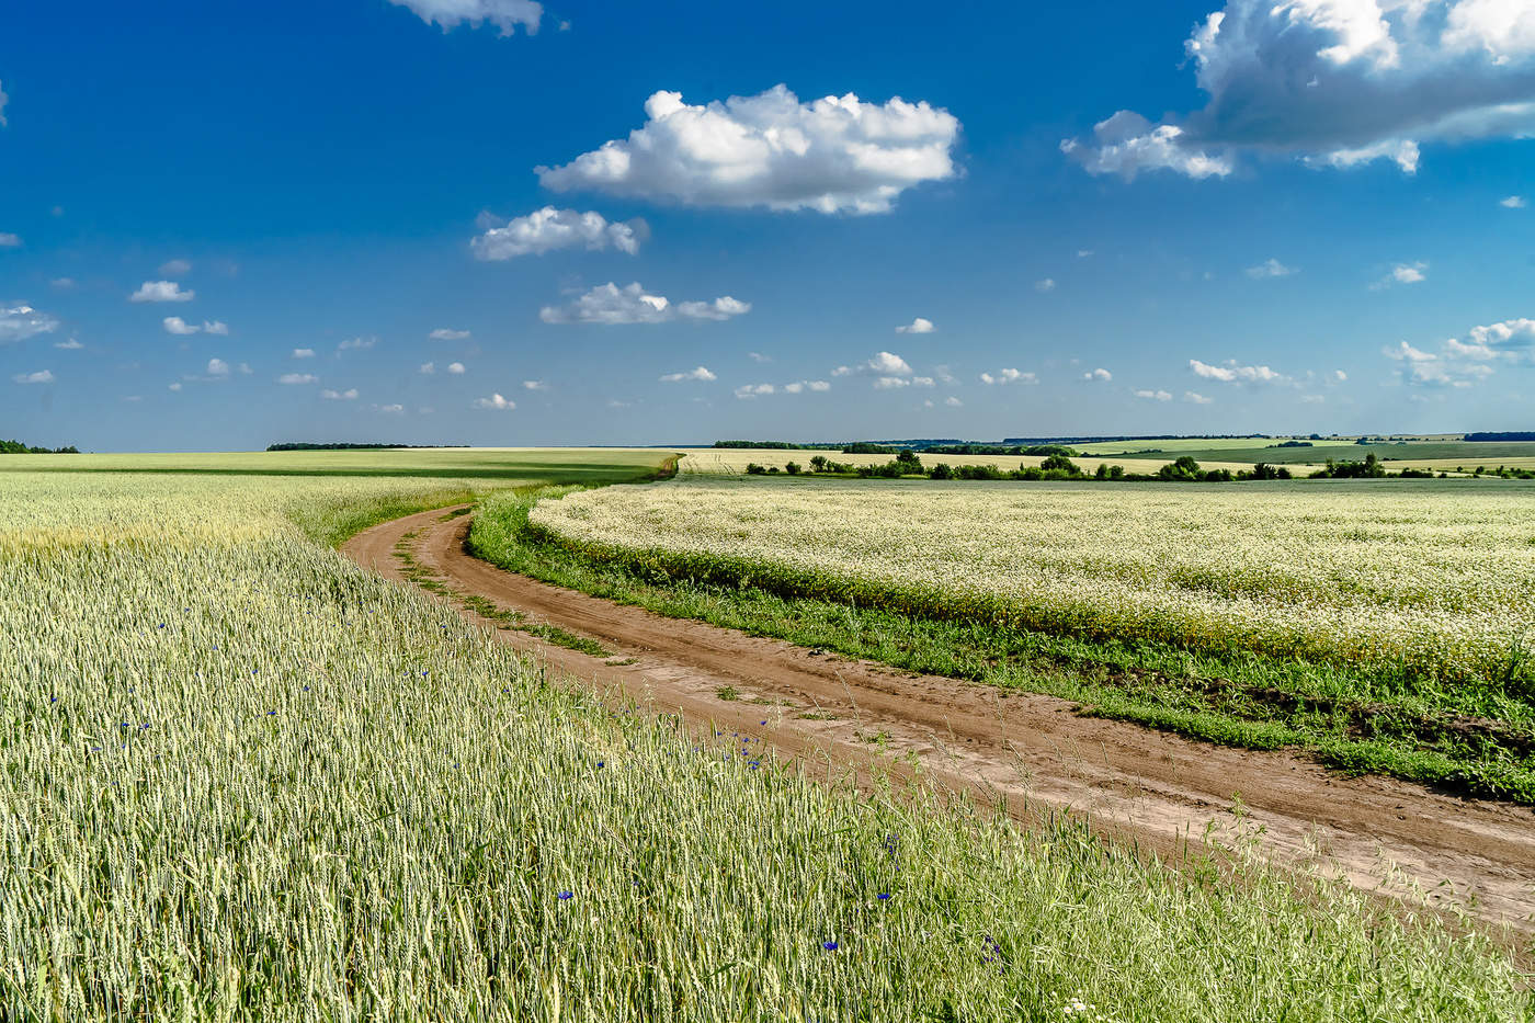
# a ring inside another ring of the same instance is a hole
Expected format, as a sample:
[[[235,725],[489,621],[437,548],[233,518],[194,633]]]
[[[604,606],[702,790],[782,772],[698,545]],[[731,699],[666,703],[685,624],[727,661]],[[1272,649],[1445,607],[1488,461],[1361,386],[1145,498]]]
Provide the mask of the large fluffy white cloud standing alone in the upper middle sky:
[[[557,192],[593,189],[688,206],[766,206],[883,214],[906,189],[955,175],[959,121],[900,97],[814,103],[784,86],[689,106],[678,92],[645,101],[648,120],[559,167],[539,167]]]

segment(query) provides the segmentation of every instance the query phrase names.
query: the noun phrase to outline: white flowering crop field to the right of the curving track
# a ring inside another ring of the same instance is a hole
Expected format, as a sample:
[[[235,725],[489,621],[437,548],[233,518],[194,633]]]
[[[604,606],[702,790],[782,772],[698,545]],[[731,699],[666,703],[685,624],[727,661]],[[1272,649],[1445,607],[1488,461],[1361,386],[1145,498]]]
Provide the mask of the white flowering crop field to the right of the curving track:
[[[1094,639],[1495,679],[1535,630],[1520,482],[682,478],[540,502],[588,553]]]

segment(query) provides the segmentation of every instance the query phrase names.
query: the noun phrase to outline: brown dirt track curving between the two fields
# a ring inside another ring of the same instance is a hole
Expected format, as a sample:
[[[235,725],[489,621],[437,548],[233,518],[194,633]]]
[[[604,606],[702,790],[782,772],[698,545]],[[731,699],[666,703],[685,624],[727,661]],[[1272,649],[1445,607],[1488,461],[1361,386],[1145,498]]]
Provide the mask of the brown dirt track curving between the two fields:
[[[494,568],[464,551],[468,516],[441,518],[427,512],[385,522],[342,551],[404,581],[394,545],[416,531],[408,542],[418,564],[451,587],[597,639],[616,656],[499,631],[507,642],[605,690],[757,736],[780,754],[898,768],[895,762],[915,753],[929,777],[1005,800],[1015,816],[1087,814],[1094,828],[1168,857],[1180,856],[1185,840],[1197,845],[1207,829],[1228,842],[1240,831],[1280,863],[1315,865],[1409,902],[1460,906],[1509,925],[1523,940],[1535,937],[1529,808],[1382,777],[1343,779],[1286,754],[1079,717],[1070,702],[1048,696],[916,676],[662,617]],[[720,699],[725,687],[738,699]],[[1233,813],[1237,799],[1242,819]]]

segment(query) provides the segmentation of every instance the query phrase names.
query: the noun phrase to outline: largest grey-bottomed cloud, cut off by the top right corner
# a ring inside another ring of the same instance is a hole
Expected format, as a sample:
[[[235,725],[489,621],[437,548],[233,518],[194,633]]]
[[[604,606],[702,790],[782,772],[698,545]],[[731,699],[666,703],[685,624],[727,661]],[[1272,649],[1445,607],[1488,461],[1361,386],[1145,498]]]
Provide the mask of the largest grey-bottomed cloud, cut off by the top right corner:
[[[1535,132],[1527,0],[1228,0],[1183,49],[1203,109],[1119,111],[1062,149],[1093,174],[1225,175],[1243,152],[1418,166],[1418,143]]]

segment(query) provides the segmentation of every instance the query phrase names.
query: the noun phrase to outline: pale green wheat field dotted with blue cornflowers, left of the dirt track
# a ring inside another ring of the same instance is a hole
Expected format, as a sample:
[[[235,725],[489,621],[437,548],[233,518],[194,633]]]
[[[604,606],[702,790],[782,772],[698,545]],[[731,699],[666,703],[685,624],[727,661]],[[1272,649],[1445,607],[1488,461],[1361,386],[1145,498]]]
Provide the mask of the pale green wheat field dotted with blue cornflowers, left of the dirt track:
[[[810,783],[321,542],[551,464],[485,459],[0,473],[0,1018],[1530,1012],[1481,937],[1240,854],[1171,871]]]

